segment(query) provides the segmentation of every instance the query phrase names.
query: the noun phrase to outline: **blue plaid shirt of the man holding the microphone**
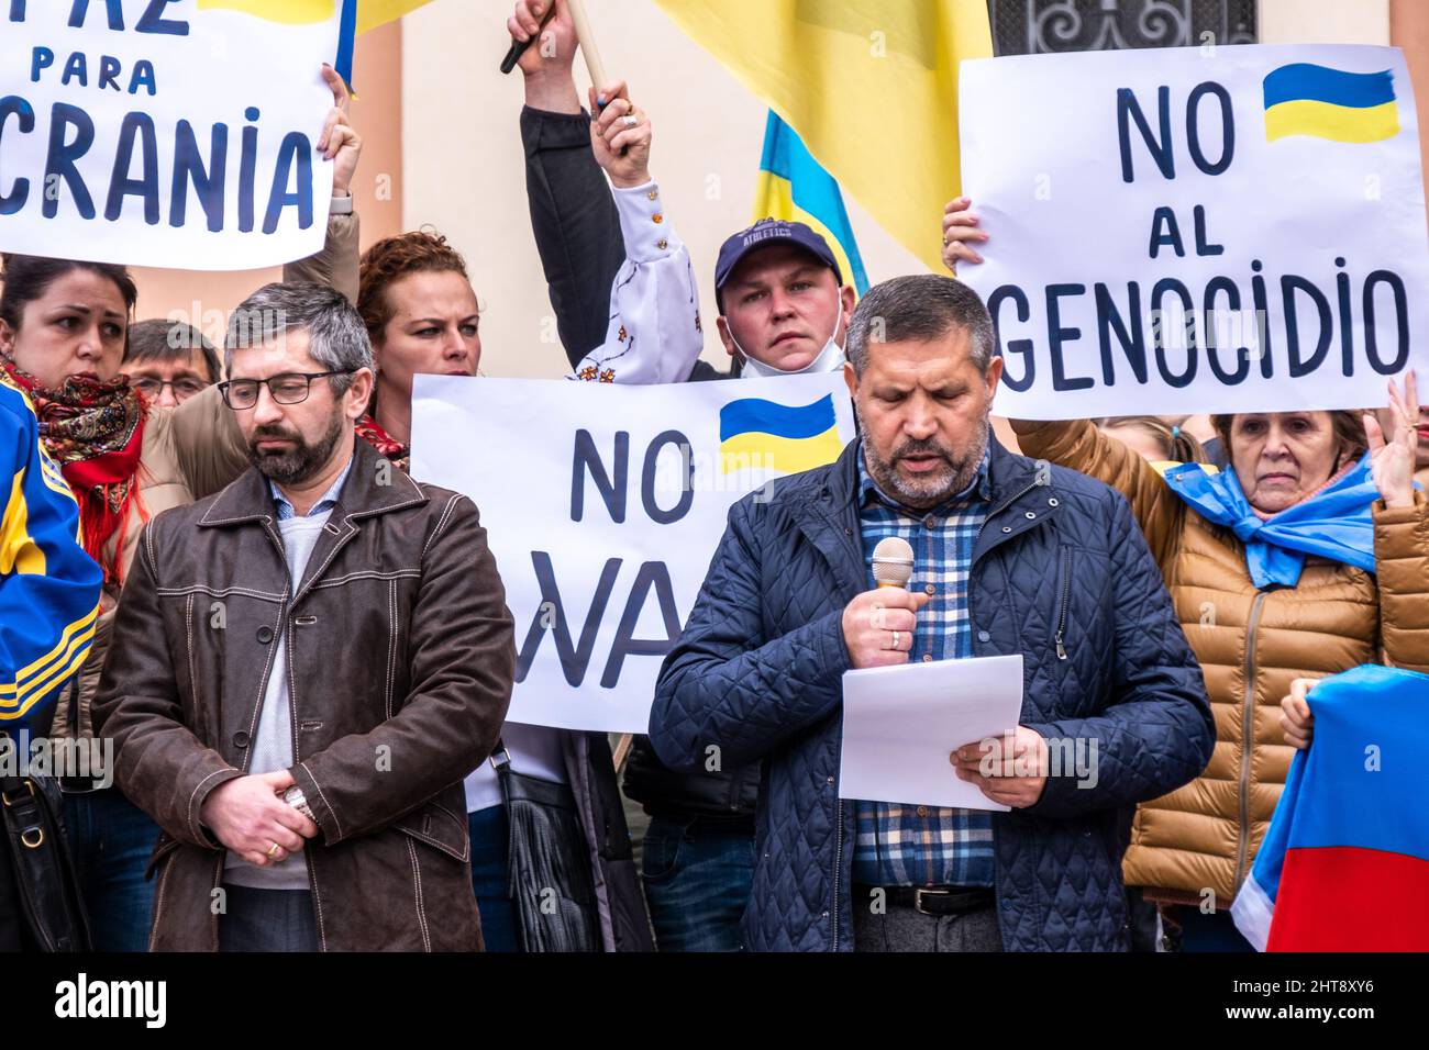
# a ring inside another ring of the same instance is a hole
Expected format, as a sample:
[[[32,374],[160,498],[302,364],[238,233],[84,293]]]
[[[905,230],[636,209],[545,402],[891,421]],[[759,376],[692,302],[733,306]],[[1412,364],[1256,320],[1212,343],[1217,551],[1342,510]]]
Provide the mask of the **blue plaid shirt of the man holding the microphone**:
[[[922,514],[886,496],[859,453],[859,520],[863,561],[873,581],[873,549],[900,536],[913,546],[909,590],[932,601],[917,614],[909,660],[963,660],[973,654],[967,621],[967,573],[987,517],[989,456],[976,480],[947,503]],[[962,741],[950,741],[957,744]],[[952,747],[949,747],[952,750]],[[947,767],[953,776],[953,767]],[[992,886],[992,814],[939,806],[856,801],[853,881],[867,886]]]

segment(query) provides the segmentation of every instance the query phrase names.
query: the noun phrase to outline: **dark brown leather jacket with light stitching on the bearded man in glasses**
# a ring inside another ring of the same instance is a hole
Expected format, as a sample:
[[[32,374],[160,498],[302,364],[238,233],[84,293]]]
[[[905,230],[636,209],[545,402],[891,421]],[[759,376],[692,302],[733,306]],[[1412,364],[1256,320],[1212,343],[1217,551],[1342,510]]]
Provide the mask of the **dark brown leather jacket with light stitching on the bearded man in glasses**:
[[[506,717],[512,616],[472,501],[354,447],[302,580],[252,467],[144,530],[94,723],[163,829],[151,950],[217,949],[224,849],[200,811],[247,769],[280,637],[292,770],[320,829],[303,850],[319,946],[482,946],[462,779]]]

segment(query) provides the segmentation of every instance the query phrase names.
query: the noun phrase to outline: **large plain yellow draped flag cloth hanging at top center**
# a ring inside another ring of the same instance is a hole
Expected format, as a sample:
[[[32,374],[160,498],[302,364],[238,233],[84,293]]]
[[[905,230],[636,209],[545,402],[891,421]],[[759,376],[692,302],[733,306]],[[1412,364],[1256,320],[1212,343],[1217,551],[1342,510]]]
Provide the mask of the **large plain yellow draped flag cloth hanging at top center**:
[[[942,270],[960,191],[957,63],[992,57],[986,0],[656,0],[799,133],[873,220]]]

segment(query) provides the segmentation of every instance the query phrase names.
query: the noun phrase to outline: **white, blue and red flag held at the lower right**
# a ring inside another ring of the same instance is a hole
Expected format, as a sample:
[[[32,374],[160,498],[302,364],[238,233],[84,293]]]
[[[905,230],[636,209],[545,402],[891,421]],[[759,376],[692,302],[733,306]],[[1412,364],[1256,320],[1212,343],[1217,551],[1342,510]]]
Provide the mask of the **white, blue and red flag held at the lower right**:
[[[1366,664],[1309,703],[1236,927],[1262,951],[1429,950],[1429,674]]]

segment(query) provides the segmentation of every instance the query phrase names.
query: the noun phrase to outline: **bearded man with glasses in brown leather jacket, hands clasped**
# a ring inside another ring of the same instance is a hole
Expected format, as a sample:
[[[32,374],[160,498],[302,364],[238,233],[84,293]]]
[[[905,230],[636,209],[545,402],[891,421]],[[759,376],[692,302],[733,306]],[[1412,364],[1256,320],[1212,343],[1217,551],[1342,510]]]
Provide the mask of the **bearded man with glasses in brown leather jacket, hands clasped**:
[[[150,949],[480,949],[462,779],[514,644],[476,507],[354,440],[340,293],[260,290],[226,356],[254,466],[149,524],[94,700],[163,829]]]

